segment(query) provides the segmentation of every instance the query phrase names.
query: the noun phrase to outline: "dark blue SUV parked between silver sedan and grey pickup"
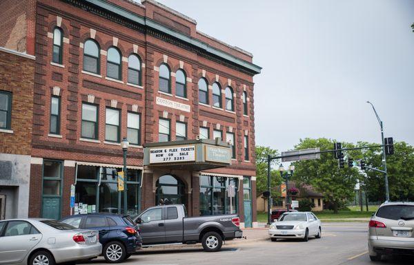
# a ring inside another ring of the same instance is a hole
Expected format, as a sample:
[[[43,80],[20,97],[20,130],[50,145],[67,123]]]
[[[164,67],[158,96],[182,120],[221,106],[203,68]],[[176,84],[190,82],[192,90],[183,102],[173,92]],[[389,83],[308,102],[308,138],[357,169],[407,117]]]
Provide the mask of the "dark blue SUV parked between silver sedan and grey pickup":
[[[141,248],[139,227],[128,215],[89,213],[70,215],[61,222],[79,229],[99,231],[102,255],[106,262],[119,263]]]

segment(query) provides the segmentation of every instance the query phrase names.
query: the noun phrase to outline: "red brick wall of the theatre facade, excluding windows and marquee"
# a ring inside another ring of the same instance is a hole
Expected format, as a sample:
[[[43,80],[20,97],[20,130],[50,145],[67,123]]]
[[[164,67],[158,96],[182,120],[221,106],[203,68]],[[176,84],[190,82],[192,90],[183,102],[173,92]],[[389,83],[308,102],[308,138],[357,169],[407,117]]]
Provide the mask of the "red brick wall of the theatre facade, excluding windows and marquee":
[[[9,1],[10,2],[10,1]],[[170,10],[155,1],[110,0],[115,5],[139,17],[146,17],[154,23],[180,32],[193,40],[220,50],[239,61],[252,63],[253,56],[236,47],[231,47],[210,36],[198,32],[193,19]],[[210,170],[235,176],[255,176],[255,120],[253,100],[253,73],[237,63],[217,58],[206,51],[183,43],[178,39],[157,30],[146,30],[120,15],[110,12],[93,12],[95,6],[82,1],[39,0],[35,14],[35,45],[27,43],[27,51],[34,50],[36,67],[34,74],[34,107],[32,131],[32,157],[64,160],[62,215],[70,213],[68,205],[70,184],[75,182],[75,161],[96,162],[113,165],[122,164],[122,151],[119,145],[105,140],[106,107],[121,111],[121,138],[126,137],[127,113],[141,115],[141,145],[158,141],[159,118],[170,119],[171,139],[175,140],[175,123],[187,124],[187,138],[195,139],[199,127],[235,134],[236,159],[230,167]],[[16,7],[19,10],[18,7]],[[92,12],[88,12],[91,10]],[[101,15],[99,15],[101,14]],[[30,15],[28,16],[30,17]],[[28,22],[29,23],[29,22]],[[52,32],[55,27],[63,31],[63,62],[52,61]],[[31,33],[32,34],[32,33]],[[83,71],[83,44],[94,39],[100,46],[100,73],[88,74]],[[121,52],[121,81],[106,78],[106,57],[108,48],[117,47]],[[137,54],[141,59],[141,86],[128,84],[128,56]],[[166,63],[171,70],[171,93],[159,92],[159,66]],[[186,73],[187,98],[175,96],[175,72],[182,69]],[[206,78],[210,105],[199,104],[198,81]],[[221,105],[225,105],[224,89],[232,87],[235,111],[229,112],[211,106],[213,101],[211,85],[221,86]],[[246,92],[247,115],[244,115],[242,94]],[[51,96],[61,98],[60,134],[50,135]],[[190,112],[164,107],[157,104],[158,98],[166,98],[190,106]],[[81,105],[83,102],[99,106],[99,137],[95,141],[81,138]],[[249,161],[244,160],[244,136],[248,136]],[[143,165],[141,146],[128,149],[128,165]],[[41,160],[37,160],[39,162]],[[70,162],[66,162],[70,161]],[[158,172],[159,173],[159,172]],[[157,174],[158,174],[157,173]],[[166,172],[168,173],[168,172]],[[30,187],[30,216],[41,215],[41,167],[32,165]],[[144,184],[141,191],[142,206],[155,204],[155,175],[144,169]],[[190,215],[197,215],[199,204],[199,178],[197,173],[189,173],[186,182],[186,201]],[[39,179],[40,176],[40,179]],[[154,177],[153,177],[154,176]],[[253,221],[255,214],[255,178],[252,178]],[[239,189],[239,214],[244,219],[243,189]]]

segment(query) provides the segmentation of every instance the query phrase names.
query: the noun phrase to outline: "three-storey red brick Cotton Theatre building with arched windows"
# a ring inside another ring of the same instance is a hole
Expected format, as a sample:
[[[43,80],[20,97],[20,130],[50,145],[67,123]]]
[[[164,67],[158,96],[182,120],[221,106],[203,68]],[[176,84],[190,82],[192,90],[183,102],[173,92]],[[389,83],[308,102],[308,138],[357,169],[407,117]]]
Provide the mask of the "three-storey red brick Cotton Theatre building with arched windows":
[[[127,138],[128,213],[182,203],[256,224],[252,54],[152,0],[0,8],[0,45],[36,56],[30,217],[117,211]]]

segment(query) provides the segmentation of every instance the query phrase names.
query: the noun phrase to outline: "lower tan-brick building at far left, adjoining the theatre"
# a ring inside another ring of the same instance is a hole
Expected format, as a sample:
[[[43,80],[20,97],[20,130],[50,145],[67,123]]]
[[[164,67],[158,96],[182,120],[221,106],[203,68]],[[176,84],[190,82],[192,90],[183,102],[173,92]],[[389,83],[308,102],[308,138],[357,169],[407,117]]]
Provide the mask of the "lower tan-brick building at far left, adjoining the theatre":
[[[28,216],[34,56],[0,47],[0,220]]]

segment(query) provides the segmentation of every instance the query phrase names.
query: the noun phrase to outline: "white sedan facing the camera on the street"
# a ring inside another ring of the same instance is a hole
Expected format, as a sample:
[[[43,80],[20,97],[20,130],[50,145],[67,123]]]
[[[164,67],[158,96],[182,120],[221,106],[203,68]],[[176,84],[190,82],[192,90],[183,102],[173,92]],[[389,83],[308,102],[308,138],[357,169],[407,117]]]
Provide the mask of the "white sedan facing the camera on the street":
[[[311,212],[284,213],[279,220],[270,224],[270,240],[277,241],[278,238],[300,238],[308,241],[308,237],[321,238],[321,221]]]

